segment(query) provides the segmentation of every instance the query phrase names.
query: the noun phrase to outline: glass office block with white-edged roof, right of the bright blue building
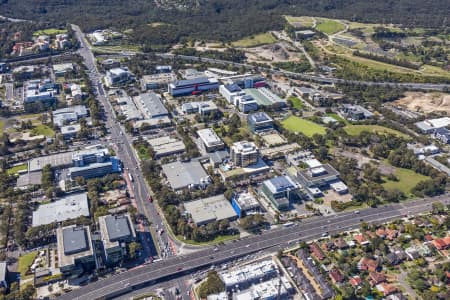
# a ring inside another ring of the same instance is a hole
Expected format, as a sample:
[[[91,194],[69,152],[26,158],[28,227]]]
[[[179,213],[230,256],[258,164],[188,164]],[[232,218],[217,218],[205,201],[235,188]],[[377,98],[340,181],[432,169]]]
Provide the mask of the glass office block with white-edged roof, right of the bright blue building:
[[[298,190],[298,184],[289,176],[278,176],[264,181],[261,191],[276,209],[286,210]]]

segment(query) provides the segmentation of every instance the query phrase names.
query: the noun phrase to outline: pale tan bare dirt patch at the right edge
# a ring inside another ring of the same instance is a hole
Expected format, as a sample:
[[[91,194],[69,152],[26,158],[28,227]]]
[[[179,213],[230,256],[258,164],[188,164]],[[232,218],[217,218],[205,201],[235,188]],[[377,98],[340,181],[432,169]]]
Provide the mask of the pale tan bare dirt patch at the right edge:
[[[446,112],[450,114],[450,94],[406,92],[405,97],[394,104],[415,112]]]

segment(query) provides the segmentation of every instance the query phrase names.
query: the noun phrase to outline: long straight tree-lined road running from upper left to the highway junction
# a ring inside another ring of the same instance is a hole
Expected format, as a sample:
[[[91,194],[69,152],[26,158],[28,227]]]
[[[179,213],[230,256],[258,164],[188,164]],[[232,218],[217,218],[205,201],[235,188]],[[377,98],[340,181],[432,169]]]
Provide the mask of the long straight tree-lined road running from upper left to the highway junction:
[[[83,33],[81,32],[80,28],[76,25],[72,25],[72,28],[77,35],[78,41],[80,42],[81,47],[79,49],[79,54],[83,57],[84,63],[89,70],[89,78],[91,80],[92,86],[97,91],[96,97],[104,108],[106,127],[109,128],[112,142],[118,150],[116,154],[123,162],[124,167],[127,168],[128,172],[134,179],[132,187],[130,188],[133,189],[135,194],[137,210],[139,213],[144,214],[147,219],[152,222],[152,226],[161,227],[161,224],[163,224],[163,220],[156,210],[155,205],[148,201],[150,190],[145,182],[145,179],[143,178],[143,176],[141,176],[139,161],[136,157],[135,151],[132,148],[131,138],[127,135],[125,129],[120,125],[120,123],[116,121],[115,114],[113,113],[113,107],[108,101],[107,95],[101,83],[102,76],[97,69],[95,57],[86,40],[84,39]],[[144,234],[146,236],[144,236],[142,240],[146,258],[157,255],[157,253],[154,253],[155,251],[152,251],[151,247],[153,246],[153,244],[155,245],[155,247],[160,244],[160,242],[158,241],[152,242],[149,234],[150,232]],[[162,245],[160,246],[163,248],[162,252],[164,252],[165,246],[169,243],[169,237],[167,236],[167,233],[164,233],[159,236],[158,239],[161,239]],[[168,247],[167,249],[167,255],[172,255],[170,247]]]

